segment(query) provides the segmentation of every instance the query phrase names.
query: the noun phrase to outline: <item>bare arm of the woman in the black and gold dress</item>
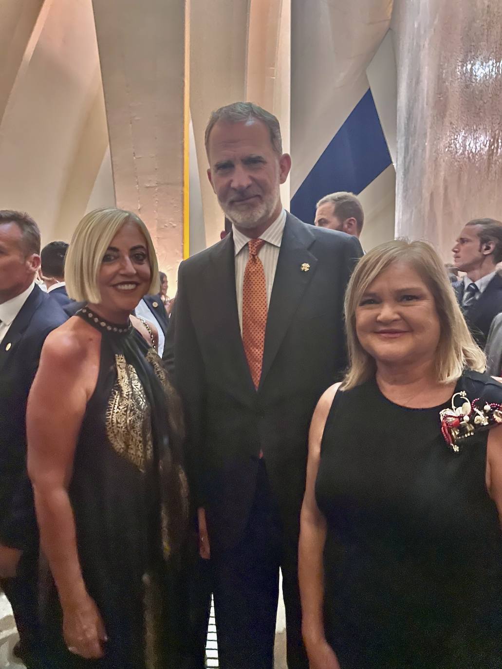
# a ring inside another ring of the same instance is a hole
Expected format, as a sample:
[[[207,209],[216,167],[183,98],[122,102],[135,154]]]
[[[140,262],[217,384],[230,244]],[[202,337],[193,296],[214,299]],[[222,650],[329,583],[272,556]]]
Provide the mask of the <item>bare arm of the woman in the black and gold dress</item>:
[[[27,406],[28,474],[41,546],[64,612],[66,642],[73,652],[98,658],[104,630],[82,577],[68,496],[78,434],[98,373],[87,353],[68,328],[50,334],[44,344]]]

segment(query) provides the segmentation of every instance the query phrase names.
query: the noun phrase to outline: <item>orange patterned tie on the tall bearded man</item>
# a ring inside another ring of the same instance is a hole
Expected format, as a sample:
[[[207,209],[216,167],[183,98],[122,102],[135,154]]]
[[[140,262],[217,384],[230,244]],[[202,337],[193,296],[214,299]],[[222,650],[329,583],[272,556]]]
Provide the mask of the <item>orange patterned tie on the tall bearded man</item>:
[[[257,255],[264,243],[264,240],[249,240],[249,260],[242,286],[242,343],[255,388],[262,375],[267,314],[265,270]]]

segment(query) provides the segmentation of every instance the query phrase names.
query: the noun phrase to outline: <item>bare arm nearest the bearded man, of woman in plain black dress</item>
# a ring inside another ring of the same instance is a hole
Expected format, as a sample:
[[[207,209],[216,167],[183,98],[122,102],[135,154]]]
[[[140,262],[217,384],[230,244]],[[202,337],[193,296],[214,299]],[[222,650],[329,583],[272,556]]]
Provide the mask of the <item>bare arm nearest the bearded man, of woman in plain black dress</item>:
[[[299,543],[299,582],[302,605],[302,632],[312,669],[339,669],[336,656],[325,638],[323,620],[324,569],[323,549],[326,520],[315,500],[315,480],[321,457],[321,440],[326,419],[339,388],[331,386],[317,403],[309,433],[307,486],[301,510]]]

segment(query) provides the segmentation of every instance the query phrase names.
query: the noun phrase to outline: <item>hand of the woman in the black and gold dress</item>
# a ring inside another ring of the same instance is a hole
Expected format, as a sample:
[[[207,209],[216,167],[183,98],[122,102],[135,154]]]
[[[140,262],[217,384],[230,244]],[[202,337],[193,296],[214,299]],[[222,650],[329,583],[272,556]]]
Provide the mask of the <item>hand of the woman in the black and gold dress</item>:
[[[87,660],[102,658],[108,638],[98,607],[89,595],[63,607],[63,636],[71,653]]]

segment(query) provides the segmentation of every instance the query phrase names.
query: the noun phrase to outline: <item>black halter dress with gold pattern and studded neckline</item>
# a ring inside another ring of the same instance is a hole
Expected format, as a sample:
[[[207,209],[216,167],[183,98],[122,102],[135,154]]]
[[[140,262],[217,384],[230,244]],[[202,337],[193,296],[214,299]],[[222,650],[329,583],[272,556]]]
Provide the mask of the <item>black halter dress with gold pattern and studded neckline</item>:
[[[77,315],[102,330],[102,343],[69,493],[84,582],[108,641],[97,662],[68,652],[52,584],[44,615],[52,662],[54,669],[178,669],[187,666],[187,601],[175,555],[187,490],[169,425],[179,417],[169,415],[161,359],[139,333],[88,308]]]

